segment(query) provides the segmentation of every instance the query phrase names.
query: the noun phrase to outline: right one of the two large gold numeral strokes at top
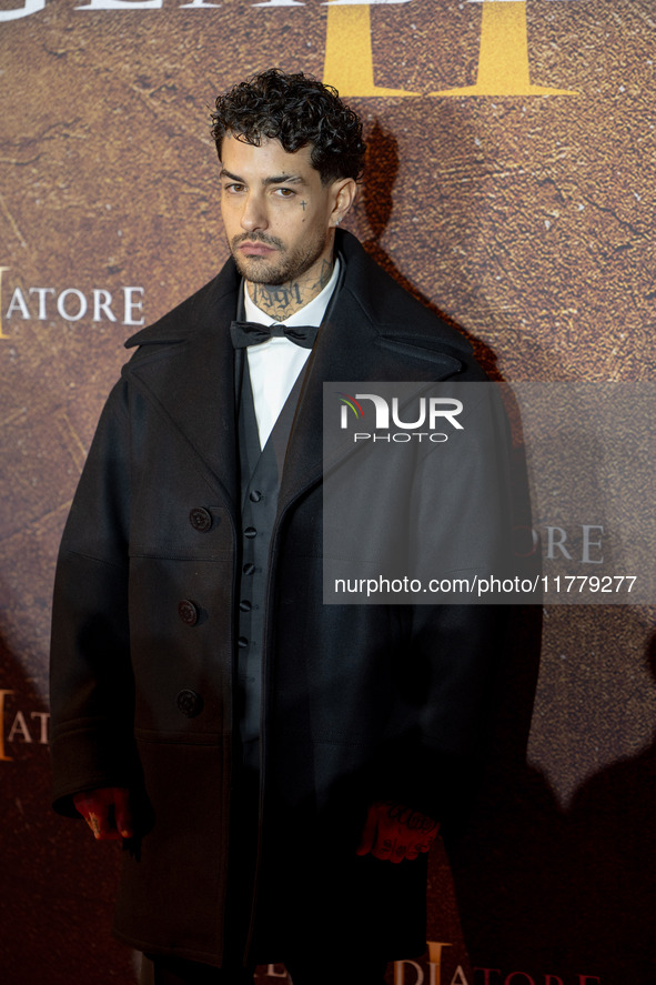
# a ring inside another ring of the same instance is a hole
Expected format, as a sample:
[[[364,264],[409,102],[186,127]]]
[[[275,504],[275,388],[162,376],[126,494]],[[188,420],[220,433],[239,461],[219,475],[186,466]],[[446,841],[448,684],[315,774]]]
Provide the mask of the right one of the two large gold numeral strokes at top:
[[[476,84],[431,96],[578,96],[531,83],[526,0],[483,0],[482,14]]]

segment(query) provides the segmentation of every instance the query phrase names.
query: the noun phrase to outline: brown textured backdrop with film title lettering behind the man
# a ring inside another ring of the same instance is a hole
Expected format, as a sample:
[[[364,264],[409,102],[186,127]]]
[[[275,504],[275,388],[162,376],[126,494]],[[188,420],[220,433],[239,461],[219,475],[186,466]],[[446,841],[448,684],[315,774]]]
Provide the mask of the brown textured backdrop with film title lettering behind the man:
[[[215,93],[271,64],[340,88],[371,148],[351,229],[497,379],[649,380],[656,14],[652,0],[0,4],[0,974],[130,983],[109,936],[118,856],[49,808],[49,603],[123,339],[226,255]],[[573,517],[575,549],[597,520]],[[534,615],[455,888],[434,861],[432,967],[400,964],[396,985],[656,982],[654,611],[547,606],[533,705]]]

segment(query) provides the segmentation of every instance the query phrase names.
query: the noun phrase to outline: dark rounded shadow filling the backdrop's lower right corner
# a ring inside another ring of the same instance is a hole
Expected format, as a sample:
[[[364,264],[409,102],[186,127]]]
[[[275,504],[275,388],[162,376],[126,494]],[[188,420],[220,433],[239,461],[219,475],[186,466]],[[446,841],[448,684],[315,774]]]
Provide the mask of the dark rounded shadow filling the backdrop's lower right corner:
[[[625,613],[624,633],[644,634]],[[646,659],[656,679],[656,634]],[[514,972],[541,985],[547,975],[549,985],[654,985],[656,742],[586,781],[569,810],[542,773],[505,754],[495,744],[474,821],[452,854],[472,964],[501,969],[490,985]]]

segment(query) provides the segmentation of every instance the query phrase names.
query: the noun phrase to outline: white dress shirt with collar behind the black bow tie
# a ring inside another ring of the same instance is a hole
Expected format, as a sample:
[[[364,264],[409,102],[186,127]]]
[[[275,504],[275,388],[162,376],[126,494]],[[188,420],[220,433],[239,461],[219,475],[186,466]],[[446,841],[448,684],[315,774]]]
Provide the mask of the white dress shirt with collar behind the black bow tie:
[[[284,324],[320,325],[332,298],[340,275],[340,261],[335,265],[330,281],[325,288],[307,304],[285,318]],[[251,301],[244,281],[244,313],[246,321],[262,325],[280,324],[280,319],[271,318]],[[310,356],[311,349],[303,349],[284,336],[269,339],[260,345],[249,345],[246,355],[249,359],[249,373],[251,389],[255,404],[255,418],[260,434],[260,448],[264,448],[266,440],[277,421],[284,402],[290,395],[292,386],[299,378],[299,373]]]

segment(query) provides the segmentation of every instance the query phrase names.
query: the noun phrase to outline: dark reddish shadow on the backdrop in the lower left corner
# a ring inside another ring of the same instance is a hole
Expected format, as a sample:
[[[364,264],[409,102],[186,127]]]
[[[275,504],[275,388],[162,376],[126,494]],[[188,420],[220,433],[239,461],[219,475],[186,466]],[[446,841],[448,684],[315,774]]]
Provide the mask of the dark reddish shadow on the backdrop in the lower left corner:
[[[0,721],[0,978],[7,985],[129,985],[132,953],[110,936],[120,850],[97,845],[81,821],[52,811],[48,748],[40,742],[48,708],[2,636],[0,670],[9,692]]]

